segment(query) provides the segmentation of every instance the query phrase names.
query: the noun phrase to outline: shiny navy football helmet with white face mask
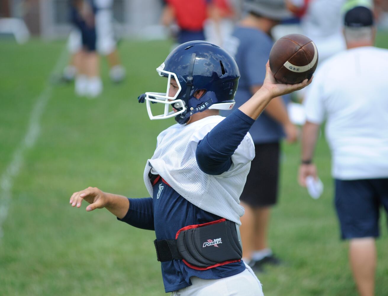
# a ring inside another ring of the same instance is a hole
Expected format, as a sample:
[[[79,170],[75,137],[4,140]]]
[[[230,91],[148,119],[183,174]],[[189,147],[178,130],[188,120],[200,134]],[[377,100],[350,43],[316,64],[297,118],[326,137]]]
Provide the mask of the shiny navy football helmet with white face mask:
[[[191,41],[179,45],[159,66],[160,76],[168,78],[166,93],[146,92],[142,99],[147,104],[150,119],[175,116],[184,124],[189,117],[206,109],[232,109],[240,72],[233,57],[223,48],[206,41]],[[178,84],[174,97],[169,97],[171,77]],[[197,90],[206,90],[199,99]],[[140,102],[140,100],[139,100]],[[164,113],[153,115],[151,103],[165,104]],[[170,111],[171,106],[171,111]]]

